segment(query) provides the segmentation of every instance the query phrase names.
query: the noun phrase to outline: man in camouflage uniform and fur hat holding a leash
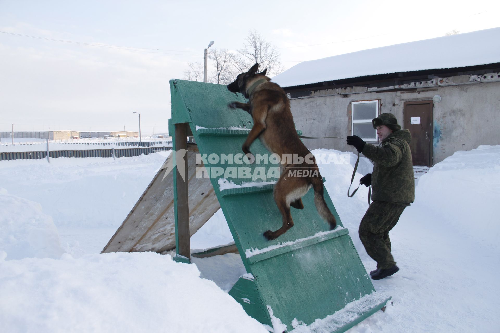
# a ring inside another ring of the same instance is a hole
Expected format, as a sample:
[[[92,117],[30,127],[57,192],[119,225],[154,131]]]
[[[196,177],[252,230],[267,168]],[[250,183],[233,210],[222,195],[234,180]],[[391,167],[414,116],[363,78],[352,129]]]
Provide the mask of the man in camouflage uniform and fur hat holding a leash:
[[[399,268],[390,254],[389,231],[394,228],[406,206],[413,202],[415,184],[413,161],[408,143],[410,132],[397,124],[391,113],[382,113],[371,120],[379,146],[364,142],[360,137],[347,137],[347,144],[373,161],[373,173],[360,179],[371,184],[373,202],[359,225],[359,238],[366,253],[376,261],[371,279],[380,280],[396,273]]]

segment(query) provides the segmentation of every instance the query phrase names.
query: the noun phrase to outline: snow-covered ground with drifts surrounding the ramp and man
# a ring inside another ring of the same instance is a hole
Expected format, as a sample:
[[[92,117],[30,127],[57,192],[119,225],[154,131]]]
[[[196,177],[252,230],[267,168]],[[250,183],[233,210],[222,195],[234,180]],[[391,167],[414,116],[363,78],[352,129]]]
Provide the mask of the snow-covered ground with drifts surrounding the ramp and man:
[[[0,162],[2,332],[266,332],[227,294],[245,273],[239,255],[188,265],[154,253],[99,254],[167,154]],[[357,237],[367,189],[347,198],[350,157],[321,167],[369,271],[375,264]],[[358,171],[356,183],[370,164],[362,159]],[[498,332],[499,188],[500,146],[457,152],[421,175],[415,203],[390,233],[400,271],[373,281],[391,304],[348,332]],[[219,211],[191,248],[231,241]]]

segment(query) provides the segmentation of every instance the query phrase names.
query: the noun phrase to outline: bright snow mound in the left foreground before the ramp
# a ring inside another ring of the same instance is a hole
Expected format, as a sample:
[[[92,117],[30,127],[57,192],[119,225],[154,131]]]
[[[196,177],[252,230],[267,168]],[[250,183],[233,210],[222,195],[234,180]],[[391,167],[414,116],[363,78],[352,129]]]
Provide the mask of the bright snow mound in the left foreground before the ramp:
[[[0,262],[2,331],[266,333],[195,265],[154,253]]]

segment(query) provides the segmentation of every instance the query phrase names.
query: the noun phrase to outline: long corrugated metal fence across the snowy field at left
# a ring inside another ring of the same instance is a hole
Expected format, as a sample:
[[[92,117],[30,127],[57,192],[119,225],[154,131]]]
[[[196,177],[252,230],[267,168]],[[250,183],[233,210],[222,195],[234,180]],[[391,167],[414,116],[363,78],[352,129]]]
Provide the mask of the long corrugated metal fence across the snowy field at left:
[[[157,146],[158,144],[165,144],[165,146]],[[74,145],[74,144],[71,144]],[[165,141],[145,141],[145,142],[103,142],[97,145],[113,147],[88,149],[88,145],[81,144],[81,149],[68,149],[68,150],[52,150],[49,151],[49,157],[131,157],[139,156],[141,154],[151,154],[158,151],[171,150],[171,146],[166,146]],[[45,145],[40,145],[45,147]],[[123,148],[116,148],[114,146],[123,146]],[[87,148],[87,149],[85,149]],[[37,160],[47,157],[46,151],[24,151],[24,152],[0,152],[1,160]]]

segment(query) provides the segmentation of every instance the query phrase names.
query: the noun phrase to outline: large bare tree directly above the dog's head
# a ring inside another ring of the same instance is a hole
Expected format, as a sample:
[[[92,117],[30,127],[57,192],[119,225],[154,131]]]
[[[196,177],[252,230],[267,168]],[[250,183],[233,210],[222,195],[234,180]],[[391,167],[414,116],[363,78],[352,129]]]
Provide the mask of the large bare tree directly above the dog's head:
[[[279,61],[279,51],[253,29],[245,37],[243,48],[238,49],[233,55],[233,64],[236,71],[241,73],[255,63],[259,64],[259,71],[267,68],[267,72],[274,75],[283,71],[283,65]]]

